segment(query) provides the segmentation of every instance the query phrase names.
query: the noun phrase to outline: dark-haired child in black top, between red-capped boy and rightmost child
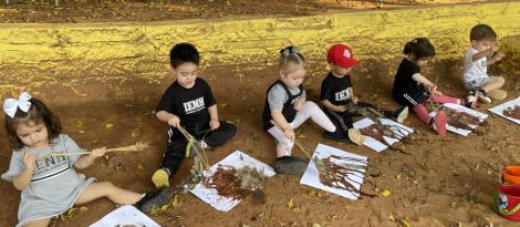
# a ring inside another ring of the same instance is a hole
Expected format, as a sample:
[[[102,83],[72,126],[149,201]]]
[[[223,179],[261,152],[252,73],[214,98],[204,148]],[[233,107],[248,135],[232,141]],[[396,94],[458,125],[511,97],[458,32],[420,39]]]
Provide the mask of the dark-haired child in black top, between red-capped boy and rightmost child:
[[[392,95],[399,104],[410,107],[426,124],[429,124],[439,135],[446,134],[447,116],[444,111],[438,111],[435,117],[430,117],[425,102],[455,103],[475,109],[476,96],[468,96],[467,100],[443,95],[437,91],[437,85],[431,83],[420,73],[420,66],[428,63],[435,56],[434,45],[427,38],[416,38],[404,47],[406,56],[399,64],[395,74]]]

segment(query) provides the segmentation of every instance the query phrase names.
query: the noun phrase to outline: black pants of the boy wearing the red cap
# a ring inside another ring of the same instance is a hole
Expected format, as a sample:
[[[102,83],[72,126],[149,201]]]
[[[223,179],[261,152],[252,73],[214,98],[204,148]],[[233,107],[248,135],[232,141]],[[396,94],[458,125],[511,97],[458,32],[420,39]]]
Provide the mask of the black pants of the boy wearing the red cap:
[[[337,124],[340,124],[340,132],[343,133],[343,134],[346,134],[346,132],[349,131],[349,128],[353,128],[354,127],[354,120],[353,117],[355,116],[362,116],[362,114],[355,110],[356,106],[358,107],[370,107],[370,109],[374,109],[375,111],[379,112],[379,113],[383,113],[384,115],[387,115],[389,114],[391,112],[389,111],[385,111],[385,110],[382,110],[382,109],[378,109],[377,106],[371,104],[371,103],[364,103],[364,102],[357,102],[357,104],[353,104],[351,103],[351,109],[349,109],[347,111],[345,112],[335,112],[335,111],[332,111],[332,110],[329,110],[326,109],[325,110],[325,114],[331,117],[332,120],[334,120],[334,122],[336,122]]]

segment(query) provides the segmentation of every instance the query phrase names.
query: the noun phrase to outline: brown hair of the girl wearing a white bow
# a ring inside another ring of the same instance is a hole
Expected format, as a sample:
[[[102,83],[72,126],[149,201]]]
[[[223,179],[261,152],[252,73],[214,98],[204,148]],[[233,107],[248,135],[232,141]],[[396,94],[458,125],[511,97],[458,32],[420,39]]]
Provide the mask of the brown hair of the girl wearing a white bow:
[[[43,123],[49,132],[49,144],[61,133],[60,118],[54,116],[42,101],[33,97],[29,100],[29,102],[31,102],[31,107],[27,113],[17,110],[14,117],[11,118],[6,115],[6,130],[8,133],[9,144],[15,149],[23,147],[23,143],[17,134],[17,126],[19,124],[27,124],[30,121],[34,123]]]

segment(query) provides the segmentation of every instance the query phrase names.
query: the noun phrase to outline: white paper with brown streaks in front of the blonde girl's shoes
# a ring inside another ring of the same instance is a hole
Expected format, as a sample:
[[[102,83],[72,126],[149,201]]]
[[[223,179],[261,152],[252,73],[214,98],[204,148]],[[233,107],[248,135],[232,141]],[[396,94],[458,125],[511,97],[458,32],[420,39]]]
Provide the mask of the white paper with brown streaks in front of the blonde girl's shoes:
[[[305,173],[303,173],[303,176],[300,180],[300,184],[309,185],[311,187],[315,187],[318,189],[326,190],[329,193],[333,193],[333,194],[343,196],[345,198],[357,200],[357,198],[360,197],[360,195],[357,193],[353,193],[353,192],[350,192],[350,190],[346,190],[346,189],[330,187],[330,186],[326,186],[326,185],[324,185],[320,182],[318,168],[316,168],[313,159],[314,159],[314,157],[326,158],[331,155],[336,155],[336,156],[342,156],[342,157],[351,157],[351,158],[358,158],[358,159],[366,161],[365,162],[366,164],[364,164],[364,163],[354,162],[354,161],[334,159],[334,163],[337,163],[337,164],[353,164],[353,165],[362,165],[362,166],[367,165],[367,157],[366,156],[361,156],[361,155],[352,154],[352,153],[349,153],[349,152],[345,152],[345,151],[341,151],[341,149],[332,147],[332,146],[318,144],[318,147],[316,147],[314,154],[312,155],[312,159],[311,159],[311,162],[309,162],[309,166],[306,167]],[[362,173],[353,172],[353,173],[349,174],[347,180],[357,190],[361,188],[361,185],[363,184],[363,178],[364,178],[364,173],[366,171],[366,167],[357,169]]]

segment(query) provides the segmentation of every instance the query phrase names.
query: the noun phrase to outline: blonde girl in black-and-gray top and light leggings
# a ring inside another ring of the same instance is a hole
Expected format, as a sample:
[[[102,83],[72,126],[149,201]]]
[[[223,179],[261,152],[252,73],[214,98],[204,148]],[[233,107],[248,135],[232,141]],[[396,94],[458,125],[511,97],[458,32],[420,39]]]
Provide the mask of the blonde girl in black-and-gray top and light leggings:
[[[281,50],[280,79],[269,86],[263,107],[263,128],[277,141],[277,161],[274,171],[280,174],[301,174],[305,163],[291,156],[294,146],[294,128],[298,128],[308,118],[324,128],[327,137],[344,142],[346,135],[337,133],[334,124],[323,111],[313,102],[305,101],[305,90],[302,85],[305,78],[305,59],[293,47]],[[278,128],[271,121],[274,121]],[[349,134],[352,142],[363,143],[363,136],[357,130]]]

